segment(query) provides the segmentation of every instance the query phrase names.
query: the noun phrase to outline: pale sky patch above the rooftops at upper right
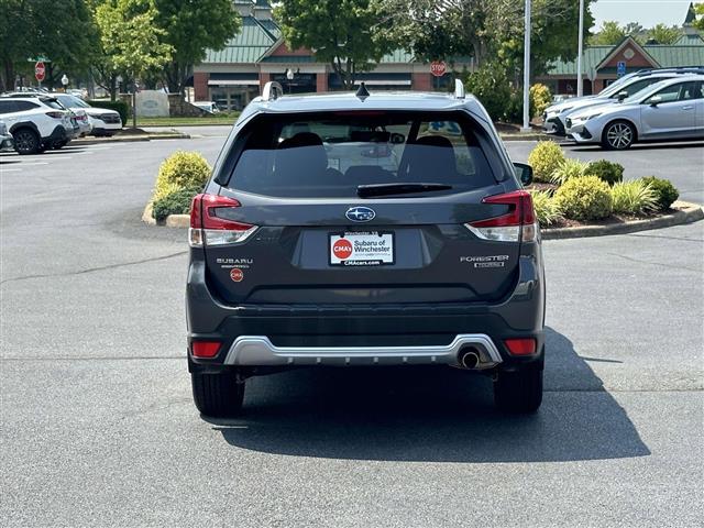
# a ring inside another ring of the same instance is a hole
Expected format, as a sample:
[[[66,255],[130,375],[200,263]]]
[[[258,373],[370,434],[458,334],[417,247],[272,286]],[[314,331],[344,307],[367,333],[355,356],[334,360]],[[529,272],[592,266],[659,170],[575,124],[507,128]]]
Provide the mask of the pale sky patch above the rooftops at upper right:
[[[605,20],[615,20],[622,25],[638,22],[644,28],[660,22],[681,25],[689,7],[690,0],[596,0],[592,3],[592,14],[596,28]]]

